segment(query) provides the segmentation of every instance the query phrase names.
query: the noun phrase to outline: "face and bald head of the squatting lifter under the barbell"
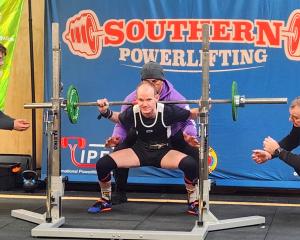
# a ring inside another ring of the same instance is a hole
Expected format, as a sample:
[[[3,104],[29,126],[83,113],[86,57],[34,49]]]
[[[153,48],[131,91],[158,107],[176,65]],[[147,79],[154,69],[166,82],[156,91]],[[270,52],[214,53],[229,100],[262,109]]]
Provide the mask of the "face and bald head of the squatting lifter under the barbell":
[[[137,104],[141,109],[141,113],[145,117],[155,116],[157,101],[158,95],[155,94],[153,87],[149,85],[141,85],[137,89]]]

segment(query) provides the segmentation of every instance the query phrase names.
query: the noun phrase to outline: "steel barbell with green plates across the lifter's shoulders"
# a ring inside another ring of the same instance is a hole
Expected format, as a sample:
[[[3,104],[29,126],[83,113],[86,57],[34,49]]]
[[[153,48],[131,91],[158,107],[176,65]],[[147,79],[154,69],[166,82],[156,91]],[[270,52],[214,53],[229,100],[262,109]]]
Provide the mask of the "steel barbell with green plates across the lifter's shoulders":
[[[231,99],[209,99],[209,104],[224,104],[228,103],[232,106],[232,119],[237,120],[238,107],[244,107],[246,104],[285,104],[287,98],[246,98],[243,95],[238,94],[238,86],[235,81],[231,86]],[[197,100],[174,100],[174,101],[160,101],[164,104],[197,104],[201,108],[201,99]],[[133,102],[124,101],[111,101],[110,106],[117,105],[134,105]],[[75,124],[79,118],[79,107],[84,106],[98,106],[97,102],[79,102],[78,90],[73,86],[69,86],[67,91],[67,98],[61,101],[61,107],[66,110],[68,118],[71,123]],[[35,108],[52,108],[51,102],[46,103],[28,103],[24,104],[25,109]]]

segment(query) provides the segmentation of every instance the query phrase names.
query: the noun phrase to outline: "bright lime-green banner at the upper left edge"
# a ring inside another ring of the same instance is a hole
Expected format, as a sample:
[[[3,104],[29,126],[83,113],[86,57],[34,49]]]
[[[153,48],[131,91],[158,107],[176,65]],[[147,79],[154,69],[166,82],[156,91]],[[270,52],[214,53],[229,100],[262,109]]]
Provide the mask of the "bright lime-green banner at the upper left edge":
[[[0,1],[0,43],[7,49],[0,68],[0,110],[4,109],[10,69],[23,9],[23,0]]]

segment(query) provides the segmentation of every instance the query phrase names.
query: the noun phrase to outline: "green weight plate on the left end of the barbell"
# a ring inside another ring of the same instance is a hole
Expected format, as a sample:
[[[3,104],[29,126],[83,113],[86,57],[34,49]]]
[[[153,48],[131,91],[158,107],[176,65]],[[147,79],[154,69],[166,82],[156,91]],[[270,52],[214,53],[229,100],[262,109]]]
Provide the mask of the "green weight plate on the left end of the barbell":
[[[67,113],[71,123],[75,124],[79,118],[79,107],[76,105],[79,102],[77,89],[71,85],[67,92]]]

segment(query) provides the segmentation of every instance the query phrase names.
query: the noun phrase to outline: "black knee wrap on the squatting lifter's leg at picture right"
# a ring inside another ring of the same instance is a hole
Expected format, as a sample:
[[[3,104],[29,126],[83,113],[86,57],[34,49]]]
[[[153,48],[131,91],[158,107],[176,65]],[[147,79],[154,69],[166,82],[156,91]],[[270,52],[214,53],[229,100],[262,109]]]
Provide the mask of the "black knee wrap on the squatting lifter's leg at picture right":
[[[178,168],[184,172],[184,180],[186,183],[195,184],[198,179],[198,164],[196,160],[190,156],[181,159]]]

